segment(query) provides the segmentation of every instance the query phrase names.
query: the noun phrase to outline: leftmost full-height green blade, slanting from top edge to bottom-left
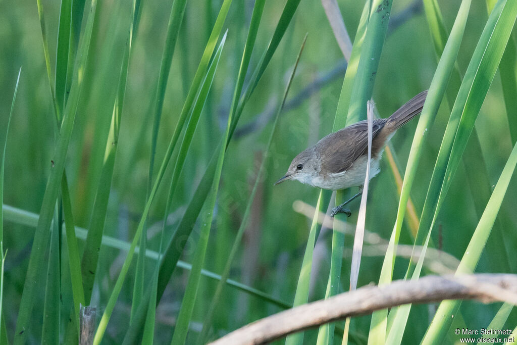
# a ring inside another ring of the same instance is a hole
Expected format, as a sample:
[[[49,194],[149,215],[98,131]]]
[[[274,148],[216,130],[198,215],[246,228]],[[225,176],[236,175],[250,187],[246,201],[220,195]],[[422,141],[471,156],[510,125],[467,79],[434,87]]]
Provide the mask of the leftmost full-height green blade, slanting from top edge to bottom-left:
[[[54,211],[54,203],[59,192],[59,182],[65,169],[65,158],[68,150],[68,143],[70,142],[70,137],[72,134],[73,123],[79,102],[79,94],[82,86],[82,82],[79,78],[79,71],[84,68],[86,57],[88,55],[89,41],[94,25],[96,5],[97,0],[92,0],[83,40],[79,49],[79,60],[75,66],[69,100],[67,102],[63,116],[63,124],[60,129],[60,136],[57,140],[55,152],[53,154],[54,166],[51,170],[47,188],[45,188],[38,227],[36,228],[34,236],[33,249],[29,259],[26,280],[20,303],[20,312],[18,314],[16,325],[16,334],[14,338],[15,344],[25,343],[27,336],[27,332],[25,332],[25,330],[29,329],[30,317],[34,305],[35,290],[38,287],[38,284],[35,282],[38,281],[37,276],[38,272],[40,271],[40,266],[43,262],[42,258],[44,256],[44,249],[48,244],[50,236],[49,229]]]

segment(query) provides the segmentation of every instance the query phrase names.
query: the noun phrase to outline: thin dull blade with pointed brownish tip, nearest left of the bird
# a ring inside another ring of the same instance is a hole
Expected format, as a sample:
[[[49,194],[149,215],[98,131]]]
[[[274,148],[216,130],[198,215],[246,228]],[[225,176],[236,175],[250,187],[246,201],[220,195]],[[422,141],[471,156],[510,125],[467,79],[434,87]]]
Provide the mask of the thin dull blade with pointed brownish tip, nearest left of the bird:
[[[264,1],[257,1],[257,7],[255,7],[255,10],[257,11],[257,13],[256,13],[257,16],[261,16],[262,15],[262,11],[264,9],[264,3],[265,3]],[[219,281],[219,283],[217,285],[216,292],[214,293],[214,296],[212,297],[212,303],[210,304],[210,308],[208,309],[208,312],[206,314],[205,321],[203,322],[203,329],[201,331],[201,334],[197,338],[197,343],[198,344],[204,344],[207,341],[208,331],[210,329],[210,326],[212,325],[212,320],[213,320],[215,311],[218,308],[219,300],[221,298],[221,293],[222,293],[222,290],[224,288],[224,283],[228,279],[228,277],[230,276],[230,269],[232,267],[233,259],[235,257],[235,254],[237,253],[237,249],[238,249],[238,247],[240,245],[242,236],[244,235],[244,232],[245,232],[245,230],[247,228],[247,225],[248,225],[248,220],[249,220],[249,216],[250,216],[250,212],[251,212],[251,206],[252,206],[253,200],[255,198],[255,193],[256,193],[256,190],[257,190],[257,187],[258,187],[258,183],[262,179],[265,162],[266,162],[266,160],[269,157],[269,150],[270,150],[270,147],[271,147],[271,142],[273,141],[273,137],[275,136],[275,132],[276,132],[276,128],[277,128],[277,123],[278,123],[278,118],[279,118],[280,113],[282,112],[282,109],[284,107],[285,99],[286,99],[287,94],[289,92],[289,89],[291,87],[291,83],[292,83],[294,75],[296,73],[296,68],[298,67],[298,63],[300,61],[301,53],[303,52],[303,47],[305,47],[306,41],[307,41],[307,35],[303,39],[300,51],[299,51],[298,56],[296,58],[296,62],[295,62],[294,68],[293,68],[293,72],[291,73],[291,77],[290,77],[289,81],[287,82],[287,86],[285,88],[285,92],[284,92],[284,96],[282,98],[282,102],[280,103],[280,107],[278,108],[278,111],[277,111],[277,114],[275,116],[275,119],[273,120],[273,126],[271,128],[271,133],[269,135],[269,140],[268,140],[266,148],[265,148],[264,159],[262,160],[261,166],[258,169],[258,173],[257,173],[257,176],[255,178],[255,183],[253,185],[253,189],[251,191],[250,197],[248,199],[248,203],[246,205],[246,210],[245,210],[244,216],[242,217],[242,221],[241,221],[239,229],[237,231],[237,235],[235,236],[235,239],[234,239],[234,242],[233,242],[233,245],[232,245],[232,249],[230,250],[230,254],[229,254],[229,256],[228,256],[228,258],[226,260],[226,264],[224,266],[224,271],[223,271],[223,274],[221,275],[222,279]]]

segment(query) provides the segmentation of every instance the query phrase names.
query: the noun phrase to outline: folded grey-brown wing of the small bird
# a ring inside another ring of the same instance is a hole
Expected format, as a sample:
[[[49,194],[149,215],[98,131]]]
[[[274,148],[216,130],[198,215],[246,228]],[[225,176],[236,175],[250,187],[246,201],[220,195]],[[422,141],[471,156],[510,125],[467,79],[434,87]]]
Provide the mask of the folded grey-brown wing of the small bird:
[[[372,124],[372,139],[386,124],[385,118],[377,118]],[[342,143],[347,143],[343,145]],[[357,158],[367,153],[368,123],[360,121],[329,134],[316,144],[321,154],[322,171],[340,173],[352,167]]]

